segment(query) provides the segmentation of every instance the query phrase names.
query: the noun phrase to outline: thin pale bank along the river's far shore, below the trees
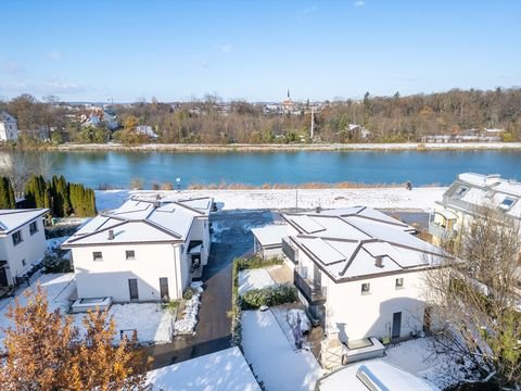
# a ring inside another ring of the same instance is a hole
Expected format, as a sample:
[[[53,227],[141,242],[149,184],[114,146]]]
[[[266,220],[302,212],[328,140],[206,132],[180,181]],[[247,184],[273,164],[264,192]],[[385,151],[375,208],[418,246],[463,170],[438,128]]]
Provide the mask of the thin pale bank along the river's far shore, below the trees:
[[[77,144],[51,148],[56,151],[164,151],[164,152],[278,152],[278,151],[447,151],[447,150],[521,150],[521,142],[455,143],[295,143],[295,144]]]

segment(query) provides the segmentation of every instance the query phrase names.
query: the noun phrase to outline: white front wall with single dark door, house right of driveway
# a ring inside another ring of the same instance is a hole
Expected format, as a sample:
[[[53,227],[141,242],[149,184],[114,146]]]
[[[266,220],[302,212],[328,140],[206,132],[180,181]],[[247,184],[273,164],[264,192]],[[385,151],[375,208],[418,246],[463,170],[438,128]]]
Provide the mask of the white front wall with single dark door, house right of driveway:
[[[404,279],[404,288],[396,288],[396,279]],[[361,285],[370,283],[370,292],[361,293]],[[322,279],[327,286],[326,323],[336,327],[341,337],[360,339],[366,337],[391,337],[393,313],[402,312],[401,337],[423,327],[423,278],[422,273],[370,278],[352,282],[334,283]]]

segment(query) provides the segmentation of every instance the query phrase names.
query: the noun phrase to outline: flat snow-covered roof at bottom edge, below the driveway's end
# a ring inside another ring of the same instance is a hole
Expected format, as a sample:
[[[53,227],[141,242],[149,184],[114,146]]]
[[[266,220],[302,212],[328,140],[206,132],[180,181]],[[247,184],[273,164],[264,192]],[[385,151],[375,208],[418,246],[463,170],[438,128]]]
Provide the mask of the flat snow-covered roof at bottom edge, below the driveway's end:
[[[260,391],[237,346],[151,370],[147,380],[165,391]]]

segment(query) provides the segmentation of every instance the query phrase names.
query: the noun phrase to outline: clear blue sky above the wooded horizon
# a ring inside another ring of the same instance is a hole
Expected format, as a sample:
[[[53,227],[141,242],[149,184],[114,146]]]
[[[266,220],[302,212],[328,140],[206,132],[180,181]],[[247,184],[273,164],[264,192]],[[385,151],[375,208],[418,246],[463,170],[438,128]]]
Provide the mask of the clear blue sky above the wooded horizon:
[[[521,85],[521,1],[4,0],[0,99],[325,100]],[[9,31],[9,34],[7,34]]]

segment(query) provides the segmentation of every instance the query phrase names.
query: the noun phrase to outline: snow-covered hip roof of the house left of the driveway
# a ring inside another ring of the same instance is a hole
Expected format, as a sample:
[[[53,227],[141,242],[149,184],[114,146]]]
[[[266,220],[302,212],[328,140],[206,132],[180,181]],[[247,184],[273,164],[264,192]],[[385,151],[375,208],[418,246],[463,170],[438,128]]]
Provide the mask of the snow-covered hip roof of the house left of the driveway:
[[[92,218],[62,247],[186,241],[193,219],[207,217],[212,202],[212,198],[130,199],[119,209]]]

